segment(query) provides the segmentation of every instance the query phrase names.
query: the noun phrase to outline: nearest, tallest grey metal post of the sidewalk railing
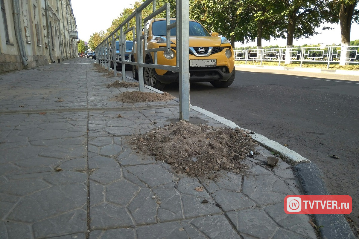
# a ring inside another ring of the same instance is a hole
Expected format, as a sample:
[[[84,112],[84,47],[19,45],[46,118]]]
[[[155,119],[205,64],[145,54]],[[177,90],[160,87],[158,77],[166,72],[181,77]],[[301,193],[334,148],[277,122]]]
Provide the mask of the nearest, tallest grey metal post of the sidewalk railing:
[[[190,59],[188,49],[190,32],[190,1],[176,1],[177,54],[180,67],[180,120],[189,120],[190,114]]]

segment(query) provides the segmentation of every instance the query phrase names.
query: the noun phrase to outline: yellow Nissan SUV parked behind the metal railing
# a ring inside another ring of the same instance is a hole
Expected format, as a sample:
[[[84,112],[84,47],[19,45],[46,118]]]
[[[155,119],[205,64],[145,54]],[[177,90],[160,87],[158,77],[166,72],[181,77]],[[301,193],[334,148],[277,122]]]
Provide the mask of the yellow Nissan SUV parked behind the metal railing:
[[[176,21],[171,18],[171,23]],[[166,19],[151,19],[146,23],[147,49],[166,46]],[[210,82],[214,87],[228,87],[236,76],[234,52],[227,38],[209,33],[201,23],[190,20],[190,79],[191,82]],[[136,45],[134,45],[136,49]],[[137,53],[131,56],[135,62]],[[154,63],[154,53],[144,54],[144,62]],[[176,28],[171,29],[171,50],[157,54],[157,63],[176,66]],[[132,67],[132,76],[138,80],[138,68]],[[144,67],[144,82],[162,90],[167,83],[178,82],[179,73]]]

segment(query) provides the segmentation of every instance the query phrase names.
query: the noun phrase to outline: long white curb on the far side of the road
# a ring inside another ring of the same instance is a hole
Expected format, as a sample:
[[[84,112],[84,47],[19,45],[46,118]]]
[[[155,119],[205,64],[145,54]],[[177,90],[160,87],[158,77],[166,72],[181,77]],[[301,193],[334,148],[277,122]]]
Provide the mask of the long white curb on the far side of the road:
[[[348,71],[348,70],[327,70],[327,69],[317,69],[317,68],[286,67],[286,66],[252,66],[250,64],[237,64],[237,65],[235,65],[235,67],[269,69],[269,70],[302,71],[302,72],[312,72],[312,73],[330,73],[330,74],[359,76],[359,71]]]

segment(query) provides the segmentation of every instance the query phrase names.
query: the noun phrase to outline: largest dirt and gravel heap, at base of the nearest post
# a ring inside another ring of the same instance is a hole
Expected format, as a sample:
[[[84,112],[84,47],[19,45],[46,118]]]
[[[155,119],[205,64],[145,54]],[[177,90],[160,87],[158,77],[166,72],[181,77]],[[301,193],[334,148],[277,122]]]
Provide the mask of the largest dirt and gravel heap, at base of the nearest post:
[[[242,159],[259,154],[254,149],[256,142],[251,133],[239,128],[194,125],[181,120],[144,135],[132,135],[130,143],[136,145],[132,149],[137,152],[171,164],[177,173],[211,177],[209,174],[213,171],[244,171]]]

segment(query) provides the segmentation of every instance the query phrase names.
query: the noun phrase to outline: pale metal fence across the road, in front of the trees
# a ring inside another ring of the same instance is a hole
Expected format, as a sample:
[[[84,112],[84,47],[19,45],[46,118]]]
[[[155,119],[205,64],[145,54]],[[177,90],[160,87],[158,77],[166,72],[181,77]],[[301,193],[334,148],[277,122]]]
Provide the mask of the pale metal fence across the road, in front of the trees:
[[[263,48],[249,50],[235,50],[236,61],[274,61],[286,64],[291,62],[322,62],[330,63],[345,62],[359,64],[359,46],[332,46],[332,47],[300,47],[300,48]],[[344,56],[342,55],[344,54]]]

